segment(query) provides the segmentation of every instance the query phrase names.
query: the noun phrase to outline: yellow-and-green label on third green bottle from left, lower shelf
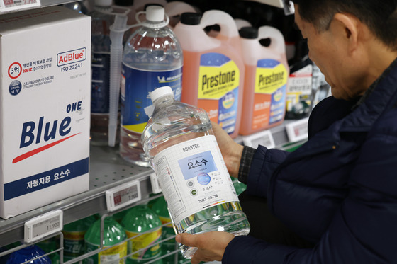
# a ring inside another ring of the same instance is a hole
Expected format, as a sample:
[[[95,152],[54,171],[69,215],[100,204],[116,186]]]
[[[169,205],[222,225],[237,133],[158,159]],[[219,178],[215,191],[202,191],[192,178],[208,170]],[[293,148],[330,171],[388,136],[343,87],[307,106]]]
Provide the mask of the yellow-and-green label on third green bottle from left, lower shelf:
[[[125,234],[127,234],[128,239],[130,239],[133,236],[137,236],[135,237],[135,239],[131,239],[130,241],[128,241],[128,254],[138,251],[129,258],[133,260],[149,260],[160,256],[161,254],[160,243],[155,246],[152,246],[151,248],[146,248],[146,247],[150,246],[152,243],[156,243],[157,241],[160,241],[162,235],[161,228],[156,229],[155,231],[152,231],[150,233],[141,234],[141,235],[140,233],[135,233],[125,230]],[[140,251],[140,249],[142,250]]]

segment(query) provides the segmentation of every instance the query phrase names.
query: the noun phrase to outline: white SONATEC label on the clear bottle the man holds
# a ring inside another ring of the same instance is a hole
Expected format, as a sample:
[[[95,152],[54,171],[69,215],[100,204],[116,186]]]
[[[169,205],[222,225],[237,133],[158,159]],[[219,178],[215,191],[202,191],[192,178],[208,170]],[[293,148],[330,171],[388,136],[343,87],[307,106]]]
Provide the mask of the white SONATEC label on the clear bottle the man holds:
[[[238,202],[213,135],[168,147],[153,164],[175,223],[209,207]]]

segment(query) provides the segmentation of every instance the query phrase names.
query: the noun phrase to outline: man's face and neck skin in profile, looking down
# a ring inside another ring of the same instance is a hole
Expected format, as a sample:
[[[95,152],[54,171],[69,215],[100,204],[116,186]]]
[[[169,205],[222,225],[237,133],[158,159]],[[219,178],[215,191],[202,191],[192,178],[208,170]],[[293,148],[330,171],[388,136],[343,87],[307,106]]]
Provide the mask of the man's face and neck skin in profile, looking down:
[[[309,57],[320,68],[331,86],[332,96],[350,100],[365,91],[363,64],[348,56],[347,34],[340,23],[318,32],[312,23],[301,20],[295,5],[295,22],[308,41]]]

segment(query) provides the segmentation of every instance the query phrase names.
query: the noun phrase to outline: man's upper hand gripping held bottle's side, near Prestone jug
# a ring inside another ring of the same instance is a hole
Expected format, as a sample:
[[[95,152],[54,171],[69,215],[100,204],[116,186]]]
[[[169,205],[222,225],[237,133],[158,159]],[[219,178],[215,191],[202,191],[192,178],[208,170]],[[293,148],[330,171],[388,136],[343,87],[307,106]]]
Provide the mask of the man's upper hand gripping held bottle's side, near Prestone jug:
[[[242,155],[242,145],[234,142],[234,140],[223,130],[220,125],[215,122],[212,123],[212,130],[218,142],[220,152],[223,160],[228,168],[230,176],[237,178],[238,170],[240,168],[240,159]]]

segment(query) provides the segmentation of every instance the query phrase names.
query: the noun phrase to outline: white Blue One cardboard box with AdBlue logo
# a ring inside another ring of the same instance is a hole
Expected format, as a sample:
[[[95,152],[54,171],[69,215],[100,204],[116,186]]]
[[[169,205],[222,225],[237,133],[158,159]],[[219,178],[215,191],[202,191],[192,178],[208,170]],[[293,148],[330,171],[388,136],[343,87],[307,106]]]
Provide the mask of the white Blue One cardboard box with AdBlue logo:
[[[0,217],[89,189],[91,18],[0,16]]]

